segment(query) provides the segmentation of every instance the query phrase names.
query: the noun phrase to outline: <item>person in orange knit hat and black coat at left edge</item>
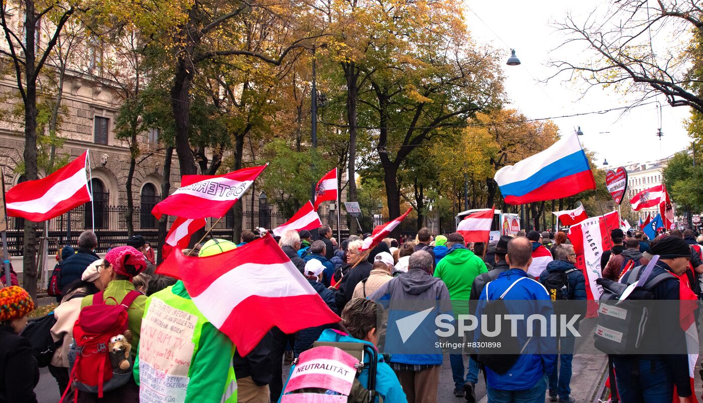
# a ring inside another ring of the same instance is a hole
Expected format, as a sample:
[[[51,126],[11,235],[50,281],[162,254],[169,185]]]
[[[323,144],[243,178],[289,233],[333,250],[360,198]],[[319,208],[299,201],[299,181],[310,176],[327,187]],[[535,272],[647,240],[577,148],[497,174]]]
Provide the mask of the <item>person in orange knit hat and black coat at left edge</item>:
[[[0,289],[0,402],[37,402],[39,367],[30,341],[20,336],[32,310],[34,301],[21,287]]]

